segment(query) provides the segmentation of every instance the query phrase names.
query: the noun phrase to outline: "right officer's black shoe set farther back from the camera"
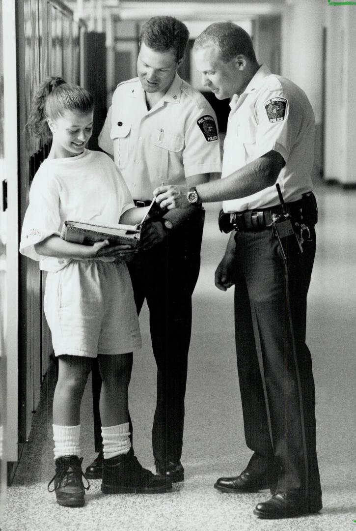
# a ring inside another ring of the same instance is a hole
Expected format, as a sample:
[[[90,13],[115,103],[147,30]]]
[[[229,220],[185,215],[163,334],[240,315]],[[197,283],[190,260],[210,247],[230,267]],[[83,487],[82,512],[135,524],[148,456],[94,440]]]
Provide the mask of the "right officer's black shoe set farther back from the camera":
[[[214,484],[215,489],[221,492],[232,492],[235,494],[243,494],[245,492],[258,492],[263,489],[270,489],[275,491],[277,483],[277,475],[273,474],[270,477],[260,475],[251,475],[248,472],[242,472],[239,476],[233,477],[219,477]]]

